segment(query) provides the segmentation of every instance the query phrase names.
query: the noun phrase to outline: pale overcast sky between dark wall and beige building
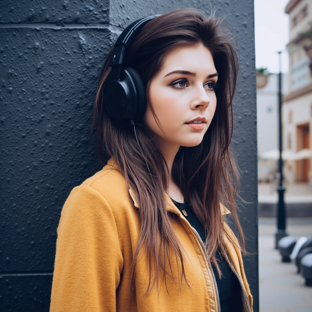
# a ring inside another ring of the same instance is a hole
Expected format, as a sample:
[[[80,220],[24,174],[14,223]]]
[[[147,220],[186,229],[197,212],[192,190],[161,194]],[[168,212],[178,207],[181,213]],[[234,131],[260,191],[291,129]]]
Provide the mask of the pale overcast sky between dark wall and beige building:
[[[289,18],[285,7],[289,0],[254,0],[256,68],[279,72],[277,51],[282,53],[282,72],[288,72]]]

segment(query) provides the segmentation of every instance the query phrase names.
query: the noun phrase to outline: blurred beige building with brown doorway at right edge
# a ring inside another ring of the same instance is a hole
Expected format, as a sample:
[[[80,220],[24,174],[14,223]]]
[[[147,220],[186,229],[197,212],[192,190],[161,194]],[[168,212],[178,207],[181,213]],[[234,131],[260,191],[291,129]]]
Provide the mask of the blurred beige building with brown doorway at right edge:
[[[288,92],[283,96],[283,150],[310,150],[312,127],[312,0],[290,0]],[[311,182],[311,158],[286,160],[285,179]]]

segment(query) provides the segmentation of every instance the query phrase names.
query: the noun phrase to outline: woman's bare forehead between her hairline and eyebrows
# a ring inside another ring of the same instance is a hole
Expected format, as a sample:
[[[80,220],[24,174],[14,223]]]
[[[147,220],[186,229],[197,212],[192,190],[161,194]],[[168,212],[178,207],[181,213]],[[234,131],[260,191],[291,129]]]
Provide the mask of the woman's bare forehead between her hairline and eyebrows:
[[[161,71],[169,72],[177,69],[205,72],[206,76],[207,72],[208,74],[216,72],[211,52],[201,43],[195,46],[175,47],[165,54]]]

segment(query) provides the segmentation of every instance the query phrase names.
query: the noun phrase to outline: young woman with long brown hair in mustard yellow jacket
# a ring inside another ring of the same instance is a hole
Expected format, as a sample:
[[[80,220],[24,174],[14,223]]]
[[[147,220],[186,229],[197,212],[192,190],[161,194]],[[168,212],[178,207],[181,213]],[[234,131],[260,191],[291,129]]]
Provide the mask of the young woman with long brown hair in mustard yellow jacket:
[[[61,212],[51,312],[252,311],[229,149],[238,59],[221,25],[179,9],[132,38],[123,66],[146,93],[135,122],[105,109],[108,54],[94,110],[103,168]]]

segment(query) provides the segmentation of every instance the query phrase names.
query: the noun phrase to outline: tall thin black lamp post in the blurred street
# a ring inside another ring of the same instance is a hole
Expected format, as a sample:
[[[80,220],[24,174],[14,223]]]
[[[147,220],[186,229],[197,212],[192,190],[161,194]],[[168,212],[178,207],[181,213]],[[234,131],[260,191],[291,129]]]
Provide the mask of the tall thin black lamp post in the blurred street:
[[[278,163],[280,172],[280,183],[276,190],[278,192],[277,204],[277,232],[275,234],[275,249],[277,249],[278,241],[288,236],[286,233],[286,210],[284,202],[285,186],[283,186],[283,160],[282,160],[282,65],[281,65],[281,51],[278,52],[280,61],[280,73],[278,75],[278,112],[279,112],[279,145],[280,145],[280,159]]]

